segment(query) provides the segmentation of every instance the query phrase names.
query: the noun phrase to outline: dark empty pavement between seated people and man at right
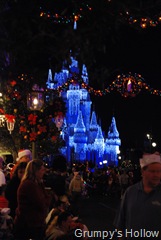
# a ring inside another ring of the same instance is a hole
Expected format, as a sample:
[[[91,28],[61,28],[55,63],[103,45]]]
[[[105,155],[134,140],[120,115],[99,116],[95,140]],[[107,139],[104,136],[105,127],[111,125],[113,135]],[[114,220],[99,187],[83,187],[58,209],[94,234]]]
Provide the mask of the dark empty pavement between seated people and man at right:
[[[119,204],[118,196],[90,196],[82,201],[80,218],[90,231],[114,230],[113,221]]]

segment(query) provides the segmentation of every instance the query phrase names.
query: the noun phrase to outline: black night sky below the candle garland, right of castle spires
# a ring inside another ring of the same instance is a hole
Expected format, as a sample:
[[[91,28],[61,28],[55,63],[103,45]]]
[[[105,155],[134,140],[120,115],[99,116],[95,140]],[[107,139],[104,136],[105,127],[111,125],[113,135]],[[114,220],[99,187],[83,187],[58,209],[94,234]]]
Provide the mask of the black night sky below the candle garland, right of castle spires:
[[[161,97],[140,93],[134,98],[127,99],[117,94],[109,94],[106,97],[96,97],[94,102],[106,133],[112,116],[115,116],[124,149],[141,148],[147,133],[152,135],[153,140],[158,143],[160,148]]]

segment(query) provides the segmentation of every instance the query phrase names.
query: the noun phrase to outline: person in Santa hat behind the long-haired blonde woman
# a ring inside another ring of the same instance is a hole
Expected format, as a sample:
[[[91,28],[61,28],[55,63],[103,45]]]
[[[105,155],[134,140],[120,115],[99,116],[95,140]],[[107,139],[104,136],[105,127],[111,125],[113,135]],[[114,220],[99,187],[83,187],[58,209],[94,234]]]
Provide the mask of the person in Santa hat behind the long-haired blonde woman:
[[[10,171],[10,178],[12,178],[12,176],[14,174],[14,171],[16,170],[19,163],[21,163],[21,162],[27,162],[28,163],[31,160],[32,160],[32,153],[29,149],[20,150],[18,152],[18,157],[16,159],[16,164],[14,165],[12,170]]]

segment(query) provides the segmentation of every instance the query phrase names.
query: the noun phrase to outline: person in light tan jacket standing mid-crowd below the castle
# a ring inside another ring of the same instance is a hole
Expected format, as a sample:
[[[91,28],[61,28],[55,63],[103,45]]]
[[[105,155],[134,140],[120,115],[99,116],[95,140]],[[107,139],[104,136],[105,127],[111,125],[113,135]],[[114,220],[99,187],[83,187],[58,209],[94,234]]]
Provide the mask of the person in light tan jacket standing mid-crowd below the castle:
[[[69,194],[71,195],[72,211],[74,215],[79,215],[83,187],[84,181],[80,172],[74,172],[74,177],[69,183]]]

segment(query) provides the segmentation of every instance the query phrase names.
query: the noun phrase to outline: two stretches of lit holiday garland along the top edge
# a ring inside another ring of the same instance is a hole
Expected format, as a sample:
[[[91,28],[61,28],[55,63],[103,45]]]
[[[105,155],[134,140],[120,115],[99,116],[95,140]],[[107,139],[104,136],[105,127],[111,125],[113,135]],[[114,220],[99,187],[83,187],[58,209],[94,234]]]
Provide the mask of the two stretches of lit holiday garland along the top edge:
[[[141,7],[134,7],[133,5],[127,6],[126,11],[121,9],[116,11],[115,2],[112,0],[106,0],[107,13],[111,12],[111,6],[113,6],[113,15],[122,18],[124,21],[128,22],[130,25],[139,26],[143,29],[147,27],[156,27],[161,23],[161,9],[160,6],[151,6],[147,11]],[[88,15],[90,11],[94,9],[94,6],[89,5],[88,1],[81,1],[79,6],[71,6],[73,8],[72,13],[69,9],[65,9],[61,13],[57,11],[51,12],[50,10],[45,10],[43,6],[40,7],[40,17],[52,20],[55,24],[68,24],[74,23],[74,29],[77,28],[77,21]],[[112,5],[113,4],[113,5]],[[158,13],[153,13],[157,9]]]

